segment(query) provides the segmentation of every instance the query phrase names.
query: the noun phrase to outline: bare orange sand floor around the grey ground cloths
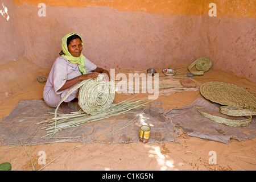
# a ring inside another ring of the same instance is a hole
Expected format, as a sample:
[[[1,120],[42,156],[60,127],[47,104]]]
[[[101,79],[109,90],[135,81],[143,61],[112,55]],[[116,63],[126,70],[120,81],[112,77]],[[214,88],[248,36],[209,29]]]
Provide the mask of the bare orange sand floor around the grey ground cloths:
[[[231,82],[256,94],[256,85],[245,78],[238,78],[229,73],[209,71],[204,76],[195,78],[198,83],[208,81]],[[34,81],[26,89],[0,101],[0,119],[8,115],[20,100],[40,100],[44,84]],[[116,94],[115,102],[131,96]],[[138,97],[144,97],[138,94]],[[202,97],[197,92],[181,92],[169,96],[159,96],[163,109],[179,108],[191,104]],[[0,145],[0,163],[10,162],[12,171],[16,170],[255,170],[256,139],[239,142],[231,139],[229,144],[214,142],[181,134],[180,143],[92,143],[79,150],[74,150],[81,143],[50,143],[36,146],[7,148]],[[26,152],[27,151],[27,152]],[[46,164],[42,163],[40,151],[46,154]],[[210,151],[217,154],[216,163],[210,164]],[[54,160],[55,159],[55,160]],[[39,164],[40,163],[40,164]],[[45,166],[45,167],[44,167]]]

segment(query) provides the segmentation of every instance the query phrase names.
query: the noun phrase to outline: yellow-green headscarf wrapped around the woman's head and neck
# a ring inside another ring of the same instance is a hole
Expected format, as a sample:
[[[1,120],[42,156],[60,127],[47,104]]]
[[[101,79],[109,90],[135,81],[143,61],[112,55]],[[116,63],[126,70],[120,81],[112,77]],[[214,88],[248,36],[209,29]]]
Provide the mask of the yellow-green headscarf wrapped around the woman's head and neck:
[[[61,46],[62,46],[62,51],[63,51],[64,55],[61,55],[61,56],[65,57],[65,59],[67,59],[72,64],[78,64],[80,72],[82,73],[82,75],[85,75],[86,69],[85,69],[85,64],[84,64],[84,61],[85,61],[84,55],[82,55],[82,53],[81,53],[81,55],[79,57],[74,57],[68,51],[67,39],[72,35],[78,35],[78,34],[71,33],[71,34],[67,34],[63,37]],[[78,36],[80,36],[80,35],[78,35]],[[80,38],[81,38],[81,36],[80,36]],[[81,38],[81,40],[82,40],[82,38]],[[82,42],[82,46],[84,46],[84,42],[83,41],[81,41],[81,42]]]

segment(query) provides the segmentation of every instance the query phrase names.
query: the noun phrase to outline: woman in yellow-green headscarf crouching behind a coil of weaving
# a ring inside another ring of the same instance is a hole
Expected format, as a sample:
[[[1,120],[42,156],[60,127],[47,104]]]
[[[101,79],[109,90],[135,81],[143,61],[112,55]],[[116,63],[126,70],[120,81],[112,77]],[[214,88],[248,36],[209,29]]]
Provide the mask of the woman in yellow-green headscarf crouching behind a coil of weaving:
[[[82,55],[82,42],[78,34],[67,34],[62,39],[62,51],[57,57],[49,73],[46,85],[44,86],[43,98],[47,105],[57,107],[61,98],[76,84],[82,80],[98,77],[100,73],[105,73],[105,81],[110,80],[109,72],[98,68],[94,63]],[[74,100],[79,89],[73,92],[61,103],[59,110],[64,114],[73,111],[68,102]]]

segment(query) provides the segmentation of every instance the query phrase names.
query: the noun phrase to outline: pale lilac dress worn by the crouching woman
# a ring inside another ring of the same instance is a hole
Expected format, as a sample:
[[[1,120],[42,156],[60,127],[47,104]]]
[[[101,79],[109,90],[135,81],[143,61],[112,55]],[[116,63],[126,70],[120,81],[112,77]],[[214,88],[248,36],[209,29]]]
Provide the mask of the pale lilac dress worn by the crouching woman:
[[[86,72],[90,73],[96,69],[97,66],[85,58],[85,68]],[[70,63],[64,57],[57,57],[52,65],[52,69],[47,78],[46,85],[44,86],[43,98],[46,104],[51,107],[57,107],[61,101],[61,98],[63,98],[65,94],[75,85],[59,92],[57,92],[57,90],[59,90],[67,80],[71,80],[72,78],[80,75],[81,72],[79,71],[77,64]],[[78,92],[79,89],[73,92],[64,102],[72,101]]]

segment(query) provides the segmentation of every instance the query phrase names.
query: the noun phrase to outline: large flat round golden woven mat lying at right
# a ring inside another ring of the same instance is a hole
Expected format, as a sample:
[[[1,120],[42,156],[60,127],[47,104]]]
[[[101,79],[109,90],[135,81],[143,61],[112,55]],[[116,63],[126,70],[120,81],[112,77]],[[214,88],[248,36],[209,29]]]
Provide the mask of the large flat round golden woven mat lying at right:
[[[200,86],[200,93],[206,99],[221,105],[239,109],[256,109],[254,94],[234,84],[218,81],[206,82]]]

